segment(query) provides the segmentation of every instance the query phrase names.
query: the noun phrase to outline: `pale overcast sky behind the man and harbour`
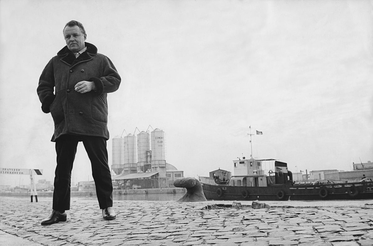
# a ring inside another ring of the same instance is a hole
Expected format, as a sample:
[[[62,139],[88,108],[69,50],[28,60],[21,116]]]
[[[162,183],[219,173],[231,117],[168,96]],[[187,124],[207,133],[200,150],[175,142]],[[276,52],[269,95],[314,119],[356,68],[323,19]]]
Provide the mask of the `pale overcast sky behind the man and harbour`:
[[[250,130],[263,132],[254,158],[293,172],[373,161],[372,1],[0,0],[0,168],[54,178],[36,88],[70,20],[122,77],[108,94],[109,165],[113,137],[156,128],[184,177],[233,172],[250,158]],[[87,180],[79,143],[72,182]],[[29,177],[0,174],[5,184]]]

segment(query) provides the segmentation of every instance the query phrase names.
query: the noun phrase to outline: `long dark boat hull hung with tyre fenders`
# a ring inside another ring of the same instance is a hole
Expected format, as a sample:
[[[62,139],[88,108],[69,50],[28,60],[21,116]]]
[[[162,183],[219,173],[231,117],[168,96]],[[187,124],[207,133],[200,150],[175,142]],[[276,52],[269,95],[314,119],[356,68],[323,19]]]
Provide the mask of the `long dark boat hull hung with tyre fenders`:
[[[201,182],[207,200],[351,200],[373,199],[373,182],[327,185],[244,187]]]

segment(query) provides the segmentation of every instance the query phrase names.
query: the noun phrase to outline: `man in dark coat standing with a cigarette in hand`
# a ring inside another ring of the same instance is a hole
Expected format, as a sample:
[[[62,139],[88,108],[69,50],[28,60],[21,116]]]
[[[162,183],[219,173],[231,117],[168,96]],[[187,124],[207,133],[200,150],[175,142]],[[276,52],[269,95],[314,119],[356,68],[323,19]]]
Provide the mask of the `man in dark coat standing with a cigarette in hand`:
[[[120,76],[113,63],[85,42],[80,22],[63,29],[66,46],[44,68],[37,88],[44,113],[51,113],[56,143],[53,210],[42,225],[66,221],[70,209],[70,180],[78,142],[83,142],[91,161],[98,204],[103,219],[115,219],[113,185],[107,161],[107,93],[116,91]],[[54,93],[55,91],[55,93]]]

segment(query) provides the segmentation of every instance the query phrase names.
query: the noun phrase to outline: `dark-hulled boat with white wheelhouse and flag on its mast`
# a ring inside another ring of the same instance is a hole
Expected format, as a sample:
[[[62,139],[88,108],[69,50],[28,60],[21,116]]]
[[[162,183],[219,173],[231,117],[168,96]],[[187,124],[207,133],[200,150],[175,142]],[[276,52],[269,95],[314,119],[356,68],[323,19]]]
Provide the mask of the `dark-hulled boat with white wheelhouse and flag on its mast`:
[[[233,160],[234,175],[232,177],[200,176],[199,181],[206,199],[263,201],[373,199],[371,178],[364,178],[360,181],[295,182],[287,163],[277,159],[254,159],[252,146],[250,157],[250,159],[242,157],[242,159]],[[272,164],[270,167],[273,166],[273,161],[275,162],[273,169],[263,169],[263,166],[267,167],[266,162]]]

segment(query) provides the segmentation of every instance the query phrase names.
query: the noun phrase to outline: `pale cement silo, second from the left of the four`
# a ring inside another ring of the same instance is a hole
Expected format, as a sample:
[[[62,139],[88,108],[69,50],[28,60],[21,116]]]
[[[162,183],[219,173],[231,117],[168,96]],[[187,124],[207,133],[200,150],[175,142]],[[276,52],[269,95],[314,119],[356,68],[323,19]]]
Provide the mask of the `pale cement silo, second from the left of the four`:
[[[123,173],[133,174],[137,172],[136,161],[136,136],[129,133],[124,139],[124,151],[122,155]]]

